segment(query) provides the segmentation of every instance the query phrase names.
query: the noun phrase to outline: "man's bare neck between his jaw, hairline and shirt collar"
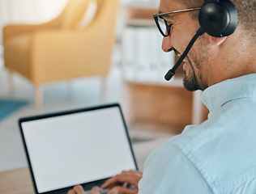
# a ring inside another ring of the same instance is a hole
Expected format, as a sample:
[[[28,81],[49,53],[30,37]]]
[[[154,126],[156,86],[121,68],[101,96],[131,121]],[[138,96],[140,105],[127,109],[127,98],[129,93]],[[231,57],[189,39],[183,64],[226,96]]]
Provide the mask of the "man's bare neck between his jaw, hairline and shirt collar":
[[[213,56],[215,63],[211,64],[212,76],[208,79],[208,86],[226,79],[256,73],[255,44],[252,44],[251,40],[243,40],[238,44],[236,39],[241,38],[236,35],[229,36]]]

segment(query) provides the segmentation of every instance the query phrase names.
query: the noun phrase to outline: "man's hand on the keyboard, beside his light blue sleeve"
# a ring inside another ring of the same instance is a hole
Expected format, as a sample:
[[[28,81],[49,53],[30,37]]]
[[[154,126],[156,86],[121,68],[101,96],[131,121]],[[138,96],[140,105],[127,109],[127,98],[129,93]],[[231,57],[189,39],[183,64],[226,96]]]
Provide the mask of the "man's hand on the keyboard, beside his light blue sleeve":
[[[120,175],[115,175],[108,179],[101,188],[108,188],[108,194],[135,194],[138,193],[138,183],[143,177],[143,173],[139,171],[122,171]],[[134,189],[129,187],[134,185]]]

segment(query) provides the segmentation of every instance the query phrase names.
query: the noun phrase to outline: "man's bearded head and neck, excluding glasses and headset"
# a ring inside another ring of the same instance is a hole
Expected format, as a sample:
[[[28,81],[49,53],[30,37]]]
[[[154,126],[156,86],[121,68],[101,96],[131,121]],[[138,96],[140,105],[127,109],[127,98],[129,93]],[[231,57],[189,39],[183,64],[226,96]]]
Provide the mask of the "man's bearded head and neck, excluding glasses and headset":
[[[248,67],[250,63],[249,60],[245,60],[245,50],[249,50],[250,45],[254,45],[253,48],[250,46],[250,50],[255,49],[256,2],[255,0],[232,2],[237,6],[239,13],[239,29],[232,36],[216,38],[204,34],[196,40],[183,65],[184,86],[189,91],[204,90],[225,79],[252,73],[243,67],[246,65]],[[161,0],[159,9],[160,12],[170,12],[202,5],[202,0]],[[171,50],[177,54],[184,52],[200,27],[198,13],[199,11],[190,11],[164,18],[172,23],[170,35],[163,39],[162,48],[165,52]],[[253,72],[254,70],[255,65],[252,68]]]

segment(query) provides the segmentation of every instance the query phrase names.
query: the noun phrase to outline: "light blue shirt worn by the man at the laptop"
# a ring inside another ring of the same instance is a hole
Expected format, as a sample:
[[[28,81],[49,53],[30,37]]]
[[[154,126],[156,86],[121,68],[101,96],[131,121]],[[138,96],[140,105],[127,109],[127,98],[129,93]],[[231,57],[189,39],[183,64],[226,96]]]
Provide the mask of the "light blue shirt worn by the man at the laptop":
[[[145,162],[139,194],[256,193],[256,74],[208,87],[210,113]]]

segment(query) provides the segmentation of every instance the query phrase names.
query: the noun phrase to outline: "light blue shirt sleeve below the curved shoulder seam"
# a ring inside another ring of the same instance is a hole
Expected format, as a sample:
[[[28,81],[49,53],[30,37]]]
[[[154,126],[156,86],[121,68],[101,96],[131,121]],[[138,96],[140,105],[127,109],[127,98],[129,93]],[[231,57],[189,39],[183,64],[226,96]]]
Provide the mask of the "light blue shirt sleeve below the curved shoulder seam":
[[[203,176],[172,144],[165,143],[150,154],[139,181],[139,194],[212,193]]]

